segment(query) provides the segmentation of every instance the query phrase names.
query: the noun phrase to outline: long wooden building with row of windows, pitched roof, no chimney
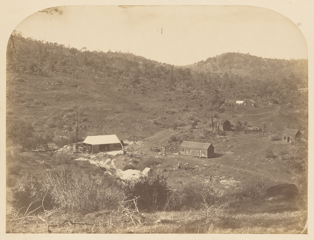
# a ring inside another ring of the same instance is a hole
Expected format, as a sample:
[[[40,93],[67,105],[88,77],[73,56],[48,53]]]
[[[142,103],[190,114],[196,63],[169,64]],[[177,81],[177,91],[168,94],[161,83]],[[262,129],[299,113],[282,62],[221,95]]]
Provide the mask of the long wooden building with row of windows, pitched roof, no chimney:
[[[211,143],[183,141],[180,145],[180,154],[210,158],[214,155],[214,146]]]

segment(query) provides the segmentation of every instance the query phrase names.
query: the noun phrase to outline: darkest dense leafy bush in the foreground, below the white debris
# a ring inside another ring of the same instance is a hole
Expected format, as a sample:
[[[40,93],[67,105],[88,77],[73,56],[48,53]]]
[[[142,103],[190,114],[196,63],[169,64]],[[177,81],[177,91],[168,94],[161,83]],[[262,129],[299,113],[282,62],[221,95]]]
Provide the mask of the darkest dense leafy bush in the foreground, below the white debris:
[[[140,211],[164,209],[171,193],[165,175],[159,172],[153,172],[150,176],[142,176],[137,180],[128,181],[122,190],[125,194],[125,200],[140,197],[137,203]]]

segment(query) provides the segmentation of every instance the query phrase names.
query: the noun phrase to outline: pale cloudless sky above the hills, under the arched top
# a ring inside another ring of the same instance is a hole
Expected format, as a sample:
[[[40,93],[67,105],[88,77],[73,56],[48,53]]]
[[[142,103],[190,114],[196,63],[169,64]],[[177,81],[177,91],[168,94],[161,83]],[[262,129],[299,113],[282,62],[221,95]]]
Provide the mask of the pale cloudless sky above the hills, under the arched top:
[[[306,41],[299,27],[266,8],[65,6],[59,9],[62,14],[36,12],[15,30],[25,37],[66,47],[129,51],[174,65],[193,64],[227,52],[307,59]]]

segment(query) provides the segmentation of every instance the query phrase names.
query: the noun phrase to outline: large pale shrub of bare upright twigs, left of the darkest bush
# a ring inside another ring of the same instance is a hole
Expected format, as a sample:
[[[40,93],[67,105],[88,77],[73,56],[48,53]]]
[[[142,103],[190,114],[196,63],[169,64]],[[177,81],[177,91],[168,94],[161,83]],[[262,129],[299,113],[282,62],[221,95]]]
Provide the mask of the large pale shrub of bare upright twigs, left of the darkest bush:
[[[57,206],[87,214],[103,209],[114,209],[123,199],[123,194],[116,186],[92,174],[60,171],[48,175],[52,194]]]

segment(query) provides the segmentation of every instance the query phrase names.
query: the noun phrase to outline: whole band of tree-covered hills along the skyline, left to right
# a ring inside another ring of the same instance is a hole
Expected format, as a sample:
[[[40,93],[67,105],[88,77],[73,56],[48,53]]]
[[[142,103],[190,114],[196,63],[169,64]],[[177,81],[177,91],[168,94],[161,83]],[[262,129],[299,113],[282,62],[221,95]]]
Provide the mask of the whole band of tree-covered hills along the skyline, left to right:
[[[220,89],[225,98],[271,98],[275,103],[287,102],[286,98],[291,101],[287,92],[307,87],[307,59],[263,59],[248,53],[223,53],[192,65],[174,66],[133,53],[65,47],[24,38],[18,32],[13,32],[8,41],[7,70],[111,78],[133,88],[146,81],[169,92]]]

